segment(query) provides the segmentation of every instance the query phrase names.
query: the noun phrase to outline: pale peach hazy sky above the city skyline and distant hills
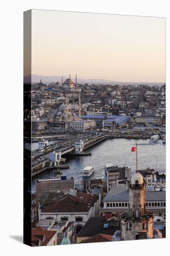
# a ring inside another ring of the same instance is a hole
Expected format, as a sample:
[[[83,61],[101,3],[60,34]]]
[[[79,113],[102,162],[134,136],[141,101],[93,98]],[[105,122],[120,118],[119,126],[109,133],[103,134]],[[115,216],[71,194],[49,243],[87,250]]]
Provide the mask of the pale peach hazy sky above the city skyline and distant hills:
[[[165,19],[33,10],[32,74],[165,82]]]

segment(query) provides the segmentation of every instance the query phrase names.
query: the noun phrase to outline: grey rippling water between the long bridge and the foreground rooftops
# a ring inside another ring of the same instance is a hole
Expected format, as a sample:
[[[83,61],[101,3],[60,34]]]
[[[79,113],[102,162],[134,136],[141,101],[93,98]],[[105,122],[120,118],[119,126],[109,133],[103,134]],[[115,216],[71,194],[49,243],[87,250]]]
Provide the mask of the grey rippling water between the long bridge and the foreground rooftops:
[[[136,153],[131,152],[131,147],[137,143],[138,169],[147,167],[156,169],[160,173],[165,173],[166,150],[162,140],[154,144],[149,144],[148,140],[135,139],[108,139],[102,141],[88,151],[92,152],[91,156],[68,156],[67,164],[69,169],[64,169],[62,175],[74,177],[74,182],[81,183],[83,169],[92,165],[95,169],[91,178],[105,178],[105,163],[112,162],[113,165],[123,167],[128,166],[131,172],[136,170]],[[33,177],[32,190],[35,191],[35,179],[49,178],[52,171],[44,171]]]

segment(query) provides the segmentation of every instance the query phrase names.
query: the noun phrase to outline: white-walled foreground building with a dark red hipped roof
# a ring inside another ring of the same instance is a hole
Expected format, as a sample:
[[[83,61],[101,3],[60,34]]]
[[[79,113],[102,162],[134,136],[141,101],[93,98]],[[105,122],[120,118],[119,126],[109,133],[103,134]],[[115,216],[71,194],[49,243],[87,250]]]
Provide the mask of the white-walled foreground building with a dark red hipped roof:
[[[56,221],[72,222],[72,231],[75,235],[82,229],[90,217],[99,215],[98,195],[75,193],[71,191],[60,199],[52,200],[39,208],[39,220],[53,219]]]

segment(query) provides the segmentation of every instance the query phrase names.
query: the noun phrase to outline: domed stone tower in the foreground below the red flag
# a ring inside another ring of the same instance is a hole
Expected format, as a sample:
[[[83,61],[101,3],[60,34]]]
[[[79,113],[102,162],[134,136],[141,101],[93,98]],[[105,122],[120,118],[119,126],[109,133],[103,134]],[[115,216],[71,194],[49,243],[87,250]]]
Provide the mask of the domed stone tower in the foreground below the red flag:
[[[153,238],[153,214],[145,208],[145,182],[136,172],[129,182],[129,210],[121,216],[121,239]]]

